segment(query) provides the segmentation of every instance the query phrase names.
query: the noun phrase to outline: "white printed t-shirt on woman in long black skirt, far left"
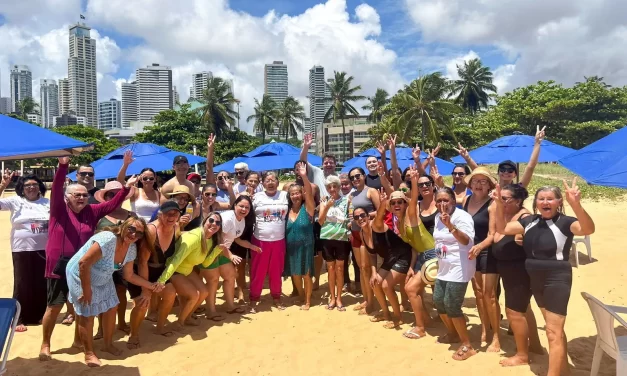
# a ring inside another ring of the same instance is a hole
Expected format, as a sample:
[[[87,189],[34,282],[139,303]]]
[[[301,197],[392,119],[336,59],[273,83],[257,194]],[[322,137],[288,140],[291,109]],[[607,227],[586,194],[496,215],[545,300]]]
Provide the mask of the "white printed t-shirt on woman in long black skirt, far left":
[[[11,211],[11,250],[13,252],[41,251],[48,242],[50,200],[28,201],[13,196],[0,199],[0,210]]]

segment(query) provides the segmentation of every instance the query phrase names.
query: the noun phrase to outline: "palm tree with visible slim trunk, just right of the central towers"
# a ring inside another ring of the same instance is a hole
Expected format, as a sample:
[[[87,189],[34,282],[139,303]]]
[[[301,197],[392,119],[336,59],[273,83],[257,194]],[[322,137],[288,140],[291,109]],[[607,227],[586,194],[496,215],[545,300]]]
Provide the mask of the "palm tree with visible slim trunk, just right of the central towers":
[[[361,86],[351,87],[353,84],[353,76],[346,77],[346,72],[333,72],[335,77],[326,83],[327,89],[331,97],[331,107],[324,115],[324,119],[333,118],[333,122],[339,117],[342,121],[342,160],[346,161],[346,127],[344,126],[344,118],[347,114],[359,115],[359,112],[351,102],[366,99],[363,95],[355,93],[361,90]]]

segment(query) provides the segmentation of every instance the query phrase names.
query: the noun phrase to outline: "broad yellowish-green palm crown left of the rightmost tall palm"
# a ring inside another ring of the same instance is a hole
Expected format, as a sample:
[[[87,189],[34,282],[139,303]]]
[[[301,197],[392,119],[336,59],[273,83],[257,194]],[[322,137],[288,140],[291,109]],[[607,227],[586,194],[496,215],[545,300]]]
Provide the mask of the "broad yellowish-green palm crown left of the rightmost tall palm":
[[[453,135],[450,129],[452,116],[462,109],[446,100],[447,87],[446,78],[442,77],[442,73],[435,72],[412,81],[394,96],[394,105],[402,109],[399,124],[404,129],[403,142],[409,142],[419,126],[423,150],[427,132],[433,140],[440,139],[440,127]]]

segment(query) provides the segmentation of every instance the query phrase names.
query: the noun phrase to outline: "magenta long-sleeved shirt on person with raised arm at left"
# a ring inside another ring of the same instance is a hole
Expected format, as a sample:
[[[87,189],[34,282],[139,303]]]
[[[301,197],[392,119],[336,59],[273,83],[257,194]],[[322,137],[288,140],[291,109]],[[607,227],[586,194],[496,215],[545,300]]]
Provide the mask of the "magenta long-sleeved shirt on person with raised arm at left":
[[[112,200],[89,204],[75,213],[65,202],[63,182],[68,165],[59,164],[50,190],[50,222],[46,244],[46,278],[59,278],[54,266],[63,254],[72,257],[94,235],[98,221],[122,206],[129,189],[124,188]]]

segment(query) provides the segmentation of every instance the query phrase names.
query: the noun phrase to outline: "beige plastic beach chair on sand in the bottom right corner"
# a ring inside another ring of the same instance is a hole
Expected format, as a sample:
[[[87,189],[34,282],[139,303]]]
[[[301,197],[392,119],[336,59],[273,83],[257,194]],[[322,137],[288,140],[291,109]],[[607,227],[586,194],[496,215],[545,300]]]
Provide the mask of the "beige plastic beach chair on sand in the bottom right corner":
[[[586,292],[582,292],[581,295],[590,306],[597,326],[597,343],[594,347],[590,376],[599,373],[603,352],[616,359],[616,375],[627,376],[627,336],[617,337],[614,331],[614,320],[627,329],[627,322],[618,316],[618,313],[627,314],[627,307],[605,305]]]

